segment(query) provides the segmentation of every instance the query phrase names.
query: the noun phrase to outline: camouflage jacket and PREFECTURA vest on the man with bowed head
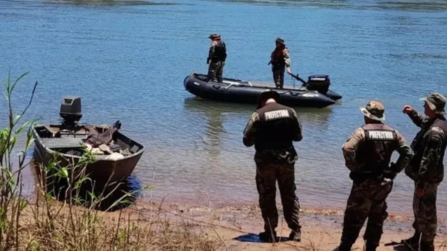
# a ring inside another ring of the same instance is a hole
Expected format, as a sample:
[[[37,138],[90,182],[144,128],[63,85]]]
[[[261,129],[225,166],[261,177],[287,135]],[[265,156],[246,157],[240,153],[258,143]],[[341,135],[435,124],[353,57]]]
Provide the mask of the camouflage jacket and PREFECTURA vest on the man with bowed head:
[[[292,141],[302,138],[295,110],[278,103],[267,103],[256,110],[244,130],[244,144],[254,144],[257,163],[295,162],[298,157]]]

